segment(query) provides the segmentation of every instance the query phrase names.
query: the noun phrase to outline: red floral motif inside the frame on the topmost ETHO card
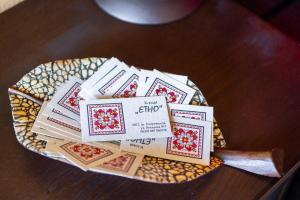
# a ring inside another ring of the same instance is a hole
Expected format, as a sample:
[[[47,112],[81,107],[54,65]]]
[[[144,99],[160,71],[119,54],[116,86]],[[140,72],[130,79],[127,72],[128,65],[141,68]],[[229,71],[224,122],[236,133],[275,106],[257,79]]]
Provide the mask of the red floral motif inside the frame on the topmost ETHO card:
[[[95,112],[95,129],[103,130],[105,128],[115,129],[119,128],[120,122],[118,121],[118,112],[117,109],[99,109]]]

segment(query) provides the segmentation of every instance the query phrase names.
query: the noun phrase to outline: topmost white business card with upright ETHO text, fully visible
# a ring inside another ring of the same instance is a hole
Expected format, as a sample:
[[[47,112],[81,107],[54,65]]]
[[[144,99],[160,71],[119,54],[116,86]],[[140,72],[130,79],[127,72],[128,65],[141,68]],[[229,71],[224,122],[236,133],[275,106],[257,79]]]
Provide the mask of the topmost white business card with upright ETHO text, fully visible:
[[[80,107],[85,142],[172,135],[164,97],[85,100]]]

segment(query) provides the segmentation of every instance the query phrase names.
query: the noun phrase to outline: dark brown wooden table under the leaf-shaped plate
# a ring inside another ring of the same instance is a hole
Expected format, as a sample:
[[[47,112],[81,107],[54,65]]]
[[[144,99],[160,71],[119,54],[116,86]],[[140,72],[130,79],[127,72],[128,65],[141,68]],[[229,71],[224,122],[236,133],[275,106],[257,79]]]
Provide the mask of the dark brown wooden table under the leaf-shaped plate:
[[[278,179],[222,166],[198,180],[156,185],[85,173],[17,143],[7,88],[40,63],[116,56],[187,74],[198,84],[234,149],[285,150],[300,158],[300,49],[245,8],[207,0],[190,17],[137,26],[87,0],[27,0],[0,15],[0,199],[257,199]]]

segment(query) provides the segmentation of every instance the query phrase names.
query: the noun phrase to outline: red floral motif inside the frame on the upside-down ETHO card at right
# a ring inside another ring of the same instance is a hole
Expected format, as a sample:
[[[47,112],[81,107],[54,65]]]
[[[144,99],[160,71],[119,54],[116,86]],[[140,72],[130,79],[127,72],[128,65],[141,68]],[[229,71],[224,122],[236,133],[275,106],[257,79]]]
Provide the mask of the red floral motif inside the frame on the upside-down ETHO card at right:
[[[178,150],[185,149],[187,151],[195,151],[197,147],[197,132],[188,130],[185,131],[181,128],[174,129],[173,148]]]

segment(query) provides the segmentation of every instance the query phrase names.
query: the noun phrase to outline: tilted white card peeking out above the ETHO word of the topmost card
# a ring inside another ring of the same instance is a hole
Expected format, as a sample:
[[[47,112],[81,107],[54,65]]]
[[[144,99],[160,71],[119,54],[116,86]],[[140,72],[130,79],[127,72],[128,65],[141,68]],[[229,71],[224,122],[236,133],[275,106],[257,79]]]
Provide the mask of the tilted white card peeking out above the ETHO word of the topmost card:
[[[155,70],[147,82],[141,76],[136,96],[165,96],[168,103],[189,104],[196,90]]]

